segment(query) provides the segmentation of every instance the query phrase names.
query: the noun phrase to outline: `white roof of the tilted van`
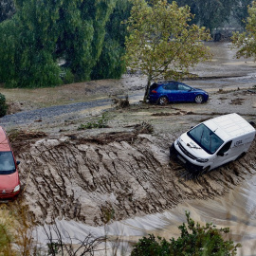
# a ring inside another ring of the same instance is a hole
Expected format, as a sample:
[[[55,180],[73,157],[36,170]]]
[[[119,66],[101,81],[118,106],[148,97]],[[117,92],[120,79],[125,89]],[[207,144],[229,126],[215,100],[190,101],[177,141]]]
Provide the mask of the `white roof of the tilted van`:
[[[255,129],[236,113],[209,119],[203,122],[224,141],[246,134],[255,134]]]

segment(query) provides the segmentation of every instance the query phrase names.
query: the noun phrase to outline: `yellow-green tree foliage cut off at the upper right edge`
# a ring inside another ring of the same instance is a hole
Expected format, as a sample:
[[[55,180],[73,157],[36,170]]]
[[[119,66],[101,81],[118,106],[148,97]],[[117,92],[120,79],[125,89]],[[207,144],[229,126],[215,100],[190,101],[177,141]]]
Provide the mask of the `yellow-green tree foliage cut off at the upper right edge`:
[[[246,31],[235,32],[231,38],[232,46],[238,48],[236,58],[253,57],[256,61],[256,1],[248,7]]]

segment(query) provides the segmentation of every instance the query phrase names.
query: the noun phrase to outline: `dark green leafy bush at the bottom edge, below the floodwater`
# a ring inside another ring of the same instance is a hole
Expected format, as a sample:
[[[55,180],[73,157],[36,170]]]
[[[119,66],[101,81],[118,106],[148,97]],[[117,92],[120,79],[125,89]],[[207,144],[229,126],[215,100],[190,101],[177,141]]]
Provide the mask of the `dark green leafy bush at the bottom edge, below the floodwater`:
[[[181,235],[176,240],[167,241],[154,235],[143,237],[132,250],[131,256],[185,256],[185,255],[236,255],[237,247],[233,241],[225,240],[229,229],[216,229],[211,223],[206,226],[195,224],[190,213],[186,212],[187,226],[183,223],[178,229]]]

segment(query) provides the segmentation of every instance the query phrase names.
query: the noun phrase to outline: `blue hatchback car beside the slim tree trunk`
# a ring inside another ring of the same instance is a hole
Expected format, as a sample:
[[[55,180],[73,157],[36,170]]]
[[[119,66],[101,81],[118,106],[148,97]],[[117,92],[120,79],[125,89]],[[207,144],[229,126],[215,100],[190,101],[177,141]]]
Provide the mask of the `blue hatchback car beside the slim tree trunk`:
[[[169,102],[191,101],[206,102],[209,95],[206,91],[192,88],[183,82],[155,82],[150,86],[148,101],[160,105]]]

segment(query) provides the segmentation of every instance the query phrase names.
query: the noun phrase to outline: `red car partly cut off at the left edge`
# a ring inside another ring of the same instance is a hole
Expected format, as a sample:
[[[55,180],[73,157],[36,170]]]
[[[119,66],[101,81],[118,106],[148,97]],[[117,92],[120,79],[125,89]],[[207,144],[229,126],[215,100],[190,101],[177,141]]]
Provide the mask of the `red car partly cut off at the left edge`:
[[[21,191],[18,165],[5,130],[0,126],[0,198],[12,198]]]

